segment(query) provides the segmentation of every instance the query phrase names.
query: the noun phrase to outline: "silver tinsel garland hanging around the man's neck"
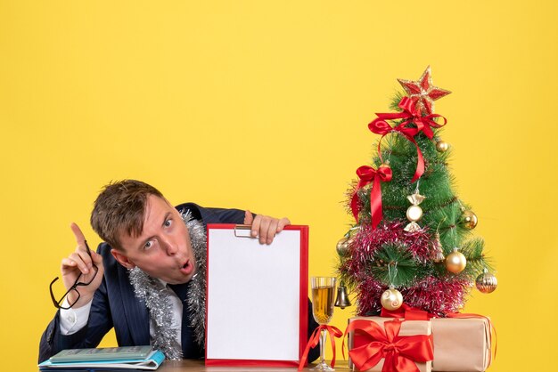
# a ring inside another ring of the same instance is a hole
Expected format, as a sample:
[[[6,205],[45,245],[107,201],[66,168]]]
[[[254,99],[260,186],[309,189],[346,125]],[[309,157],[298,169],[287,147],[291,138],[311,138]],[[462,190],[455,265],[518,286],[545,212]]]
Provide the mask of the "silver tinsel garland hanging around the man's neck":
[[[203,224],[193,219],[189,211],[182,213],[182,218],[190,233],[190,242],[193,256],[196,261],[196,273],[190,281],[185,302],[189,314],[188,322],[193,328],[193,336],[200,348],[205,343],[205,271],[207,259],[207,239]],[[154,334],[153,346],[163,352],[168,360],[182,359],[182,348],[178,343],[180,335],[172,324],[172,303],[170,302],[170,289],[164,287],[158,279],[147,275],[140,268],[135,267],[128,271],[129,279],[137,298],[142,300],[149,311]]]

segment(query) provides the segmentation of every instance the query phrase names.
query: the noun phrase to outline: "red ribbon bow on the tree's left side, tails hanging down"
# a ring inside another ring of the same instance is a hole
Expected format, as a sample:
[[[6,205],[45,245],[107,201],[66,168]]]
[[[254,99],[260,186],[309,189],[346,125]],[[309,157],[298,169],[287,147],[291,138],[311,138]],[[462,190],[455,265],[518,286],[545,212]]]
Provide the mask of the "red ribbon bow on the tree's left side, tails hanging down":
[[[355,220],[358,222],[358,213],[360,212],[360,206],[358,204],[357,191],[365,187],[367,184],[373,182],[372,190],[370,190],[370,213],[372,215],[372,227],[373,229],[378,226],[378,223],[382,221],[382,186],[381,182],[391,181],[391,168],[390,166],[383,165],[379,166],[378,169],[374,169],[372,166],[360,166],[357,169],[357,176],[360,181],[357,184],[357,190],[353,194],[353,198],[350,200],[350,208],[353,211]]]

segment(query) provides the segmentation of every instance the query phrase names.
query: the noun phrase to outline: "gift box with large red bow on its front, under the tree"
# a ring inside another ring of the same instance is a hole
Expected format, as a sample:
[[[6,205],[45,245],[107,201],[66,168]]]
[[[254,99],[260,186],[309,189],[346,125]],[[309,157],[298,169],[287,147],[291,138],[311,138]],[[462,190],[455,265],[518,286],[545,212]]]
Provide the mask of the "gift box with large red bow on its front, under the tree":
[[[350,368],[382,371],[388,363],[401,371],[431,371],[433,343],[428,320],[355,317],[349,319],[347,330]]]

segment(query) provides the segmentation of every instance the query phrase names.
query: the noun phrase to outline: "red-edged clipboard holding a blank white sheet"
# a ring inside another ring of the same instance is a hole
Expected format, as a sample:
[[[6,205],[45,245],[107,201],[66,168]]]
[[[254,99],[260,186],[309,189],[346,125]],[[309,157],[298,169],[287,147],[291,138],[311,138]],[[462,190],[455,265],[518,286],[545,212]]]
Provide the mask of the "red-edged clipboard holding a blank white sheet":
[[[238,228],[237,228],[238,226]],[[308,341],[308,226],[269,246],[208,224],[205,364],[294,367]]]

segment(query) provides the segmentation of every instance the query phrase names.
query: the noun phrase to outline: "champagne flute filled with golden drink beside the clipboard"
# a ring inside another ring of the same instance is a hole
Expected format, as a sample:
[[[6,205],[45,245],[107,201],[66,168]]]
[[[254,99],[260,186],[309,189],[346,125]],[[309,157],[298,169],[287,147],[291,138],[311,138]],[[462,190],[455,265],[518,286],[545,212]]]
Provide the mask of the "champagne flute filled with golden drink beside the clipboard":
[[[316,322],[322,326],[330,322],[333,316],[333,303],[335,293],[335,278],[332,277],[312,277],[312,304],[313,314]],[[320,362],[315,368],[310,370],[333,371],[330,365],[325,362],[325,340],[327,330],[322,329],[320,334]]]

